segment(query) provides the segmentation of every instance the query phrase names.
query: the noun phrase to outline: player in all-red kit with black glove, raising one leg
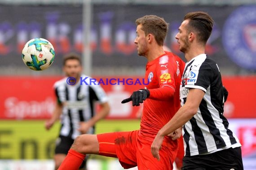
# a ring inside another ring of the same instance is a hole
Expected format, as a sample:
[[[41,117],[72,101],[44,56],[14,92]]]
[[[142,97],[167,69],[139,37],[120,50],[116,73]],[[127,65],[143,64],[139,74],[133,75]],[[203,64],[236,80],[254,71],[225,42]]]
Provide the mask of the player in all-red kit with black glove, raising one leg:
[[[179,88],[185,63],[177,55],[163,50],[168,31],[163,18],[144,16],[137,19],[136,24],[134,43],[138,55],[148,60],[145,78],[149,83],[122,103],[132,101],[132,106],[139,106],[144,102],[140,129],[78,136],[59,170],[77,170],[86,154],[117,157],[124,169],[138,166],[139,170],[172,170],[181,128],[165,136],[160,161],[152,156],[151,144],[157,132],[180,108]]]

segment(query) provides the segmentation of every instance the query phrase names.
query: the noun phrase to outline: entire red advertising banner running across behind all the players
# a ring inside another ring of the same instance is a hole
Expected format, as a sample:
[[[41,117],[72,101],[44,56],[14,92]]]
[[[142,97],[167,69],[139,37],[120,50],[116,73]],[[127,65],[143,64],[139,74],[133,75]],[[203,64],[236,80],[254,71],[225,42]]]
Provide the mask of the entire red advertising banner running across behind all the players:
[[[0,119],[48,119],[56,103],[53,84],[61,78],[0,76]],[[140,117],[142,106],[132,107],[131,102],[121,104],[121,101],[130,97],[133,91],[144,88],[142,77],[95,78],[108,95],[109,119]],[[227,118],[256,118],[255,84],[256,76],[223,77],[223,85],[229,91],[224,108]]]

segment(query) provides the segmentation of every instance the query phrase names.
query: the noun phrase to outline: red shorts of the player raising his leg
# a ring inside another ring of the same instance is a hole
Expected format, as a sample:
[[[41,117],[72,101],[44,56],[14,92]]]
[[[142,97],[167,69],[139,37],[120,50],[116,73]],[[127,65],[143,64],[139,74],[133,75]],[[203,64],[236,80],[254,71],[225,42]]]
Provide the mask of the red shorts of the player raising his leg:
[[[162,145],[158,161],[151,153],[152,142],[138,139],[138,132],[137,130],[97,135],[99,154],[118,157],[124,169],[138,166],[139,170],[172,170],[177,149],[171,150],[168,146]]]

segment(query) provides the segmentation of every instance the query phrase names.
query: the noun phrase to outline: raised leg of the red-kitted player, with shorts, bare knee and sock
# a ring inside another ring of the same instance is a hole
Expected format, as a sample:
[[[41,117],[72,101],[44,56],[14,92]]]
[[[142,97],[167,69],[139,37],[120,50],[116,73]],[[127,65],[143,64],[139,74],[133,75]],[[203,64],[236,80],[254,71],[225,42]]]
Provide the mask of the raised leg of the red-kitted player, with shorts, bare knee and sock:
[[[136,149],[132,141],[137,139],[136,136],[137,131],[80,135],[75,139],[58,170],[78,170],[86,154],[118,156],[123,167],[135,167],[137,166],[136,152],[133,151]]]

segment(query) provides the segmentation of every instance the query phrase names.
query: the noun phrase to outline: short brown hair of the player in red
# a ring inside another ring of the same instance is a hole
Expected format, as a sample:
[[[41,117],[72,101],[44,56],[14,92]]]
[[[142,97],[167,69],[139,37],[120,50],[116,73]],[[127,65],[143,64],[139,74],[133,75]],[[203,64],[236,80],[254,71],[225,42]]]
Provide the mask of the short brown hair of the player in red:
[[[141,30],[145,32],[145,35],[153,34],[157,44],[163,46],[168,32],[168,23],[163,18],[156,15],[146,15],[138,18],[136,24],[137,26],[141,24]]]

